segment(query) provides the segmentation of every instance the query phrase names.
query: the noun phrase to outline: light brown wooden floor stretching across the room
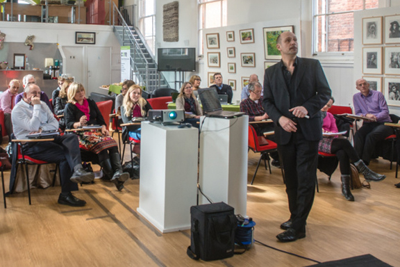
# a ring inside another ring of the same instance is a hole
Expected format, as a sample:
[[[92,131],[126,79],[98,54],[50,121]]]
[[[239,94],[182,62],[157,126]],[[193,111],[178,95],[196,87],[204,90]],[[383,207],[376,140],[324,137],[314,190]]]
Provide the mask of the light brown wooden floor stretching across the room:
[[[251,181],[258,154],[249,152]],[[257,241],[315,261],[332,261],[372,254],[392,266],[400,266],[400,181],[389,162],[372,161],[372,169],[384,173],[384,181],[371,189],[356,189],[356,202],[340,193],[339,171],[331,181],[318,172],[319,193],[306,226],[307,237],[278,243],[279,225],[289,218],[281,171],[258,171],[247,187],[247,212],[257,223]],[[6,171],[8,188],[9,171]],[[145,177],[142,177],[145,179]],[[0,266],[308,266],[301,259],[256,243],[251,250],[221,261],[194,261],[186,255],[190,231],[160,234],[141,218],[139,180],[129,179],[122,192],[113,184],[96,180],[74,193],[85,207],[57,204],[60,187],[32,190],[0,200]]]

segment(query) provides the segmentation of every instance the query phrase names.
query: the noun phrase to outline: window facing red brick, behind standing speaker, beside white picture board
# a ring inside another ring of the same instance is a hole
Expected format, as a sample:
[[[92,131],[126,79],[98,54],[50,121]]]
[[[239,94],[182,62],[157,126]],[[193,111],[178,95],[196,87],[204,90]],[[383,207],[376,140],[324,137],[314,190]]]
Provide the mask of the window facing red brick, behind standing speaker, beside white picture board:
[[[378,8],[378,0],[314,0],[313,53],[353,51],[353,12]]]

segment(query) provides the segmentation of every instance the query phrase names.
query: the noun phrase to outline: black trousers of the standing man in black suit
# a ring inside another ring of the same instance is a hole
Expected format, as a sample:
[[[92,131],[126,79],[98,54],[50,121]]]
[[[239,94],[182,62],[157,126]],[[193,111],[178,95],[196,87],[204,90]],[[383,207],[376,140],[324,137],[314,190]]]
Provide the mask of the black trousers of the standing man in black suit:
[[[315,179],[317,179],[319,141],[306,140],[300,129],[292,133],[287,145],[278,145],[285,170],[292,228],[303,231],[313,207]]]

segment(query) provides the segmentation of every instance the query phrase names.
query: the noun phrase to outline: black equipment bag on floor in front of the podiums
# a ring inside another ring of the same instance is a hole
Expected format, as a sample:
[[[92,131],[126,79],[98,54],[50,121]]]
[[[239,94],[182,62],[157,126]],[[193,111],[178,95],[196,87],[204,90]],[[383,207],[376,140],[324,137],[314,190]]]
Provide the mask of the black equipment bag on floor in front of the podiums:
[[[188,256],[213,261],[233,256],[238,220],[224,202],[190,207],[191,238]]]

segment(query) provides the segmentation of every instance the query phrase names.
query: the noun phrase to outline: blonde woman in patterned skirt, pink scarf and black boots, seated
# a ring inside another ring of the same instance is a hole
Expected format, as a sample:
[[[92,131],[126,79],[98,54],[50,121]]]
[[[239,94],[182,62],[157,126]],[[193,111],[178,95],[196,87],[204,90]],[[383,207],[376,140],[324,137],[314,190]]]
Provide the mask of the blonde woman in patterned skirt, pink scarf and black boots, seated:
[[[118,191],[124,188],[129,178],[122,171],[121,156],[117,142],[110,136],[96,102],[85,97],[85,88],[81,83],[72,83],[68,88],[68,104],[65,106],[64,118],[67,129],[78,129],[87,125],[101,125],[101,131],[76,131],[81,149],[99,157],[103,168],[104,179],[113,181]]]

